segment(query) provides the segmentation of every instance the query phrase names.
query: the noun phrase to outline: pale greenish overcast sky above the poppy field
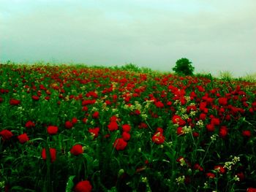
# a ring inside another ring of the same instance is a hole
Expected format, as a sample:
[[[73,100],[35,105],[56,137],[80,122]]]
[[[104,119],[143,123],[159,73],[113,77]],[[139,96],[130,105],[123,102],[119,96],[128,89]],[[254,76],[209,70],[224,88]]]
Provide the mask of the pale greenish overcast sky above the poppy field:
[[[0,61],[256,72],[255,0],[0,0]]]

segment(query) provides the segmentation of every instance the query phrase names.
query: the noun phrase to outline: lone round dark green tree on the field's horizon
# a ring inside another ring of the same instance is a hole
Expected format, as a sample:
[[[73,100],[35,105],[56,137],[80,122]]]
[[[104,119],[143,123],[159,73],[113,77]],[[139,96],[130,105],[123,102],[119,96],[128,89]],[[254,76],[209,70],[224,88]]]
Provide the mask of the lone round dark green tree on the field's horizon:
[[[192,66],[192,62],[187,58],[180,58],[176,61],[176,66],[173,67],[173,71],[177,74],[192,75],[195,67]]]

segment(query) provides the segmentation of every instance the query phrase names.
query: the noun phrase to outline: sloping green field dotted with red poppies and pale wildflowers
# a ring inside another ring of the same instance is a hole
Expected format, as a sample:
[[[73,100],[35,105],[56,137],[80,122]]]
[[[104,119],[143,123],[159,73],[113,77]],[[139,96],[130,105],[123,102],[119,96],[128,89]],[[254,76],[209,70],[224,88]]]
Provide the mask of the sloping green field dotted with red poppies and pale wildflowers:
[[[0,65],[1,191],[256,191],[256,83]]]

